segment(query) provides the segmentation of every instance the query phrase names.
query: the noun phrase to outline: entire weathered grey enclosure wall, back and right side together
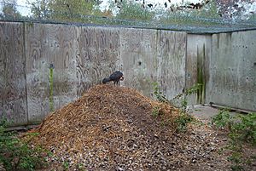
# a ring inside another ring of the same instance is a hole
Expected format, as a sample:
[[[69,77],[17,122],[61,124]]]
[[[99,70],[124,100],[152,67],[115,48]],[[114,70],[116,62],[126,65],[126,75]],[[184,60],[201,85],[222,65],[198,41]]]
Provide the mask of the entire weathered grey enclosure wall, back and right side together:
[[[39,123],[112,71],[126,87],[171,100],[202,83],[189,104],[256,111],[256,31],[183,31],[0,22],[0,118]],[[53,66],[50,69],[49,66]],[[53,89],[51,89],[53,86]]]

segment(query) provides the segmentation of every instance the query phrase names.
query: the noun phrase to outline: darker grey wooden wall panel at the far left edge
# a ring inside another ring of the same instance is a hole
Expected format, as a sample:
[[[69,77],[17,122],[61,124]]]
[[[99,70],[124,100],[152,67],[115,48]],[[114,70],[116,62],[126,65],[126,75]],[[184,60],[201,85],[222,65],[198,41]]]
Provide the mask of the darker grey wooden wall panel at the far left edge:
[[[27,123],[23,25],[0,23],[0,119]]]

